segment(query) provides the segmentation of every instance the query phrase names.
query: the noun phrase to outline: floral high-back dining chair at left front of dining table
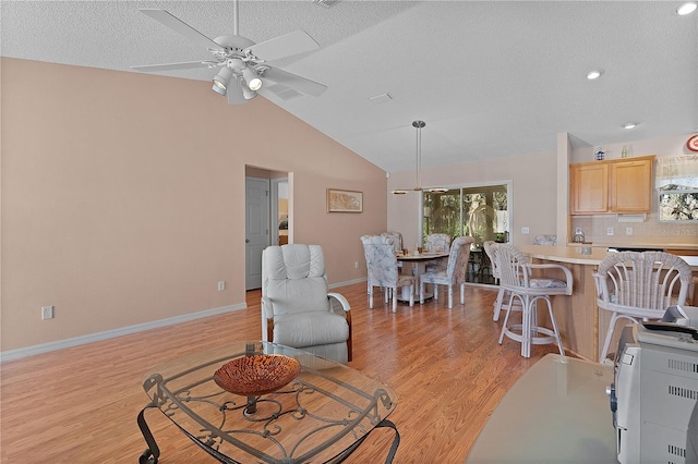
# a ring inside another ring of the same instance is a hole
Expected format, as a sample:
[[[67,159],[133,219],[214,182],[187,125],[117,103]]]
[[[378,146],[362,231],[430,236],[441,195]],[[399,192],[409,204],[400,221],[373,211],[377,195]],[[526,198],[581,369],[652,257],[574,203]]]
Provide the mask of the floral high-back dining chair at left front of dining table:
[[[414,306],[414,276],[402,274],[397,266],[397,256],[389,237],[363,235],[363,254],[366,259],[369,282],[369,307],[373,309],[373,289],[385,289],[385,303],[393,298],[393,313],[397,313],[397,289],[407,286],[410,292],[410,306]]]

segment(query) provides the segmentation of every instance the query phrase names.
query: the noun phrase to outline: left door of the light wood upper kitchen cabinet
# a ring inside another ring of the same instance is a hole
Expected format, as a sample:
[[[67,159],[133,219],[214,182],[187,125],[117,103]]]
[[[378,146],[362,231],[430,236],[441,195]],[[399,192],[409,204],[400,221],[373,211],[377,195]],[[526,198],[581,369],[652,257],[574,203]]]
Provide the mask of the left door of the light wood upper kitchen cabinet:
[[[609,211],[609,164],[602,162],[570,164],[569,184],[571,215]]]

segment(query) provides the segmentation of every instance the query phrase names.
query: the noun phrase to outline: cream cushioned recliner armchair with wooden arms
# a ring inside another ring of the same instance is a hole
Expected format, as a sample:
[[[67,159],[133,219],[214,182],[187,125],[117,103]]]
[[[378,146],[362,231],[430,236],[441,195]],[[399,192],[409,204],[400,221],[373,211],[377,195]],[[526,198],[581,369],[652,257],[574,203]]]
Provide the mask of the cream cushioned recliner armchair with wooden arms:
[[[328,292],[320,245],[268,246],[262,252],[262,340],[339,363],[351,361],[349,302]]]

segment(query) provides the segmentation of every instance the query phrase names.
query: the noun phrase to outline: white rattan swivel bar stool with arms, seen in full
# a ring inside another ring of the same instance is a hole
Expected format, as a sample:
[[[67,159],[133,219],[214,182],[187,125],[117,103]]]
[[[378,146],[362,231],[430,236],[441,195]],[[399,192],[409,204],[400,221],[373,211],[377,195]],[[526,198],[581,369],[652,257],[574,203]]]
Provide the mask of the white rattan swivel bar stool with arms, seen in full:
[[[509,293],[509,301],[504,316],[500,344],[504,337],[521,343],[521,356],[531,356],[531,344],[556,342],[559,354],[565,355],[559,330],[553,313],[551,296],[571,295],[571,271],[562,265],[531,264],[530,258],[508,243],[501,243],[494,247],[494,257],[500,266],[500,285]],[[539,276],[538,272],[557,269],[565,276],[565,280]],[[521,323],[509,326],[509,316],[516,306],[521,307]],[[547,306],[547,314],[552,330],[538,323],[538,302],[543,301]]]

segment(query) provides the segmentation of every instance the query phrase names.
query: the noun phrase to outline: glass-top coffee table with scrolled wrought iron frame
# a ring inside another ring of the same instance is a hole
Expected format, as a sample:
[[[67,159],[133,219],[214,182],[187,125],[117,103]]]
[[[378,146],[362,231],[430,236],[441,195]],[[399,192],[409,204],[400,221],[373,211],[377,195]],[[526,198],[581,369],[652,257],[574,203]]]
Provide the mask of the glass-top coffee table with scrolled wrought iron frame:
[[[224,364],[243,356],[280,354],[297,359],[301,371],[272,393],[244,396],[214,381]],[[147,443],[140,463],[157,463],[159,449],[145,412],[159,408],[184,435],[224,463],[339,463],[397,405],[387,386],[344,364],[267,342],[242,342],[160,364],[148,370],[143,388],[151,398],[137,422]]]

